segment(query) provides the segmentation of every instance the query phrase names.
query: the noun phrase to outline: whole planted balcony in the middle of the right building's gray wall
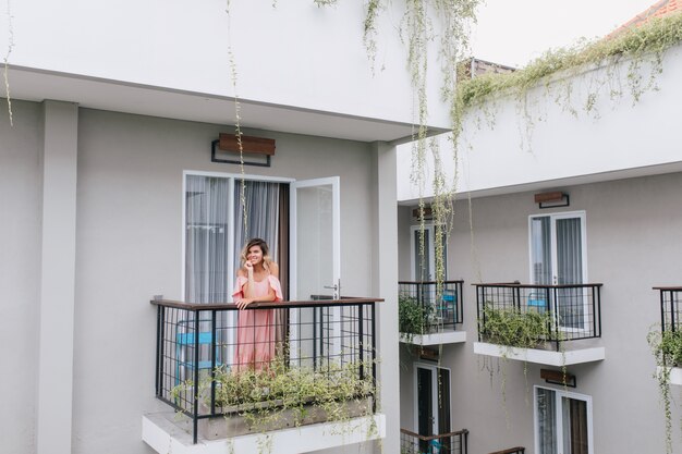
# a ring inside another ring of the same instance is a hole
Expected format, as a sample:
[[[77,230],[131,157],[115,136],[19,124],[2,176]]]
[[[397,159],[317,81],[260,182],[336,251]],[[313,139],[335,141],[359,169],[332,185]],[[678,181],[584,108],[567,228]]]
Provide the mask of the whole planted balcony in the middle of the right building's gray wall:
[[[474,353],[547,366],[602,360],[602,284],[475,284]]]

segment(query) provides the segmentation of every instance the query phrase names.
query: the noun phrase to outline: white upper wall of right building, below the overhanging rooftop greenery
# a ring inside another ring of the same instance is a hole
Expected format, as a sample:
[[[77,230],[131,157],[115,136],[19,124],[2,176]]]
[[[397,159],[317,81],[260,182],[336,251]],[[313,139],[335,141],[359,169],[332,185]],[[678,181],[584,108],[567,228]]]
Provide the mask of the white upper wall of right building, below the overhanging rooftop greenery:
[[[682,45],[666,52],[662,69],[655,76],[658,89],[645,93],[637,102],[633,102],[626,85],[628,61],[613,71],[611,78],[604,69],[575,77],[571,105],[579,112],[576,116],[567,111],[563,101],[555,101],[556,97],[564,96],[565,81],[553,83],[549,90],[540,84],[529,91],[526,105],[529,121],[523,113],[523,105],[509,97],[486,103],[486,110],[492,114],[473,110],[465,118],[458,150],[458,192],[471,192],[474,196],[502,194],[555,183],[682,170],[679,128]],[[649,79],[648,70],[648,64],[640,70],[644,84]],[[585,113],[582,109],[587,94],[597,85],[595,81],[608,84],[597,100],[598,113]],[[624,91],[622,99],[610,99],[611,87]],[[451,145],[444,136],[440,144],[452,181]],[[410,146],[399,147],[399,200],[418,198],[418,189],[410,184]],[[431,183],[425,184],[423,195],[433,195]]]

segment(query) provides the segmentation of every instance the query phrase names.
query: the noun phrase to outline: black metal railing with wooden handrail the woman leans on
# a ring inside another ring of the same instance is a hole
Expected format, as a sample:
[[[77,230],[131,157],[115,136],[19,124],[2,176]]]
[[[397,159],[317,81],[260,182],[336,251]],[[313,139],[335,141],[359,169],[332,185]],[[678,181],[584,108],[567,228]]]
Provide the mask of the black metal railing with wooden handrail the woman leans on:
[[[381,300],[253,303],[241,311],[231,303],[151,300],[157,307],[156,396],[192,419],[195,443],[200,419],[241,412],[224,402],[227,381],[233,385],[240,377],[295,372],[309,373],[312,380],[351,381],[363,394],[355,397],[367,397],[374,406],[375,310]]]

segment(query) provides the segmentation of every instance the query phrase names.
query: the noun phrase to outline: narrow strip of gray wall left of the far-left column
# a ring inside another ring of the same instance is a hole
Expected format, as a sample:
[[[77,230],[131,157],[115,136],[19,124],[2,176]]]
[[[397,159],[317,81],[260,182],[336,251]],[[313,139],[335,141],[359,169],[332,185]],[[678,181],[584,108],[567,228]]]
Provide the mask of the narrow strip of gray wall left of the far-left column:
[[[41,109],[0,98],[0,412],[2,452],[35,450],[42,196]]]

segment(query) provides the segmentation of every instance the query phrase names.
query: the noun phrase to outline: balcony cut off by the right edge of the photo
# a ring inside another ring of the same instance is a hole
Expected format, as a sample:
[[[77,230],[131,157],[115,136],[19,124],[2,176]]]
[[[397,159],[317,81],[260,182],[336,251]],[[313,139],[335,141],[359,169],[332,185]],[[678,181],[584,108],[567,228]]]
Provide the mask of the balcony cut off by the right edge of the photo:
[[[682,385],[682,287],[654,287],[660,294],[662,363],[670,367],[670,383]]]

